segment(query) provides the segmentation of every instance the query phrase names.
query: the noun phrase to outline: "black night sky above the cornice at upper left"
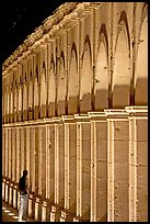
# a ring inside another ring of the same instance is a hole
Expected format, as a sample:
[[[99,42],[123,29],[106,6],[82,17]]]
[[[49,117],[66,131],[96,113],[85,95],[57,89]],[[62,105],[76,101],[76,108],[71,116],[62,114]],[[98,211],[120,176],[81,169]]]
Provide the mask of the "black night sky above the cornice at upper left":
[[[2,63],[61,3],[65,2],[60,0],[3,0],[0,51]]]

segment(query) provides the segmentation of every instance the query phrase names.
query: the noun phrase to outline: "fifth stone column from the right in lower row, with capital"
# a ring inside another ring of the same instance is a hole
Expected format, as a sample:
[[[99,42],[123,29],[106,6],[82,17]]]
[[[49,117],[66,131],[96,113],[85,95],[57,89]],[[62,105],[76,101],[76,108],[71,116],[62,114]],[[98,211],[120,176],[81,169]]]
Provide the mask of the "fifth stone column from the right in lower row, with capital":
[[[73,115],[64,115],[65,122],[65,209],[64,217],[72,217],[77,210],[77,125]],[[64,212],[62,212],[64,214]]]

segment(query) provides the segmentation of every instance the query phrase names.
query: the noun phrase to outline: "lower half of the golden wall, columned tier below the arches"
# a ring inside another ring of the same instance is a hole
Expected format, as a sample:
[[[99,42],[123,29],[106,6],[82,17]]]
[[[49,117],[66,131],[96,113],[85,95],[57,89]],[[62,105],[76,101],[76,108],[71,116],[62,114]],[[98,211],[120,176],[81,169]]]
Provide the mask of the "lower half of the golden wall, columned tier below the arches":
[[[127,107],[5,124],[3,199],[18,208],[26,168],[35,220],[147,220],[147,107]]]

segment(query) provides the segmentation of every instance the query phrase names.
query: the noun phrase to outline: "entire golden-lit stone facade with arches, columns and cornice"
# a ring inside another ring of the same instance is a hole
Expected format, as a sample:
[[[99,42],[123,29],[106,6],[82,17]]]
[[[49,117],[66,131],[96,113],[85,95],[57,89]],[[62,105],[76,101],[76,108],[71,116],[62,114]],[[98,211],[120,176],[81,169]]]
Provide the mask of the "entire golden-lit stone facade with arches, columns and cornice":
[[[36,221],[148,220],[148,4],[66,2],[2,70],[2,198]]]

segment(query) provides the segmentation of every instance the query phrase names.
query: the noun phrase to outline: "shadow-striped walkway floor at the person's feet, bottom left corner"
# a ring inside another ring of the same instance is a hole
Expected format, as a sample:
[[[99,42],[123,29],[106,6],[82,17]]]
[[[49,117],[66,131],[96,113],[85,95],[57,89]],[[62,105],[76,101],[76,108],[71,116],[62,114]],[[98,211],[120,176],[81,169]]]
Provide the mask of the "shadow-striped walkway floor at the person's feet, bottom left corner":
[[[19,222],[18,210],[10,206],[8,203],[2,201],[2,222]],[[35,222],[34,220],[27,219],[26,222]]]

